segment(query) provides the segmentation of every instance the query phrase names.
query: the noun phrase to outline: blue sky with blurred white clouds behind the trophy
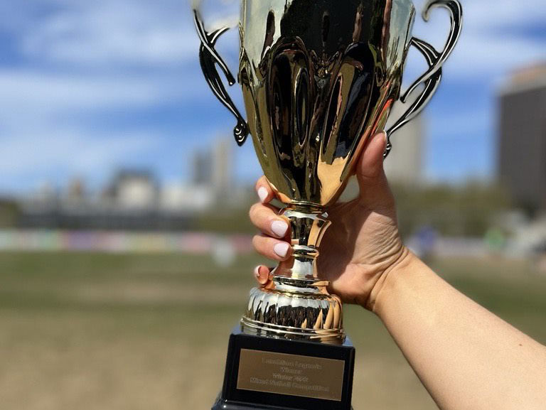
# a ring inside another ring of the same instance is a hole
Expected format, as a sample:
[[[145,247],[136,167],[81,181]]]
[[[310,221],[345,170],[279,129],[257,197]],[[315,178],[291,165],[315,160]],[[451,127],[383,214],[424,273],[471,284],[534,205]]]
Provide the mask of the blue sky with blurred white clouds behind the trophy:
[[[235,21],[234,3],[217,1],[213,20]],[[450,183],[494,178],[496,92],[513,70],[546,61],[544,0],[462,3],[461,40],[424,114],[424,173]],[[414,35],[441,48],[448,27],[435,9]],[[236,71],[237,33],[220,46]],[[421,70],[411,52],[405,82]],[[193,153],[232,139],[233,125],[201,75],[187,0],[0,0],[0,193],[73,178],[99,189],[119,168],[187,180]],[[250,141],[233,152],[237,179],[255,180]]]

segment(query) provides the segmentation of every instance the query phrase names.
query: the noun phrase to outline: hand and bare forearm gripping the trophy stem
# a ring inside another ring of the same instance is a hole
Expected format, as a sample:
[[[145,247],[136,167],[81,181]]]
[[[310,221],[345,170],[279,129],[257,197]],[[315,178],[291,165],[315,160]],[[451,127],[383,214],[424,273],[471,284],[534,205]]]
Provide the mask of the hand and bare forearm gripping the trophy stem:
[[[328,209],[333,224],[318,263],[331,292],[378,315],[440,409],[546,409],[546,347],[456,291],[402,243],[384,149],[380,133],[358,161],[358,198]],[[289,226],[269,205],[264,177],[256,189],[255,249],[287,259]],[[262,286],[269,274],[255,269]]]

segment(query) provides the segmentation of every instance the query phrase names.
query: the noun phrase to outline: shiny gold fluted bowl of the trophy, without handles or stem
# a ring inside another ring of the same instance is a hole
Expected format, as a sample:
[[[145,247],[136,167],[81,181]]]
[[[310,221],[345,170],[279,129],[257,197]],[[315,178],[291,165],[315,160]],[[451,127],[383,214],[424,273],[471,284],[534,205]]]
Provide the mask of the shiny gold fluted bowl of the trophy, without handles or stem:
[[[400,96],[410,0],[243,1],[239,82],[284,203],[327,207]]]

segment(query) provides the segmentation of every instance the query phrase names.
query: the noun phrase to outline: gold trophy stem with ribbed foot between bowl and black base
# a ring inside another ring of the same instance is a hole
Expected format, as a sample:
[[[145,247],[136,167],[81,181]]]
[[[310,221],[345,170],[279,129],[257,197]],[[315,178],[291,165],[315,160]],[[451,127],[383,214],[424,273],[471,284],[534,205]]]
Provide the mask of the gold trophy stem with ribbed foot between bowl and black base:
[[[343,343],[343,313],[338,296],[316,270],[319,244],[331,225],[320,207],[289,205],[281,215],[291,225],[291,257],[272,271],[266,288],[253,288],[244,333],[274,338]]]

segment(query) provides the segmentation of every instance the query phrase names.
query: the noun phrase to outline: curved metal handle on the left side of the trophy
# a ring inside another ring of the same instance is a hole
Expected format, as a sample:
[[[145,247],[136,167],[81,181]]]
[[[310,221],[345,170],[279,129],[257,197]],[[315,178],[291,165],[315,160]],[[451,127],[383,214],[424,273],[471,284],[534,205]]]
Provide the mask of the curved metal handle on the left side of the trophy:
[[[248,125],[237,107],[235,107],[235,104],[233,104],[230,95],[225,90],[220,73],[216,68],[216,65],[218,65],[218,67],[220,67],[220,69],[224,72],[230,86],[235,84],[235,77],[233,77],[228,65],[225,64],[224,60],[214,48],[218,38],[225,33],[225,31],[228,31],[229,27],[218,28],[218,30],[208,33],[205,30],[203,21],[201,20],[196,9],[193,10],[193,21],[196,23],[197,33],[199,40],[201,41],[199,48],[199,62],[201,65],[201,70],[203,70],[205,80],[207,80],[210,90],[213,90],[216,98],[218,98],[220,102],[224,104],[224,106],[229,109],[237,119],[237,125],[233,129],[233,136],[235,136],[237,145],[242,146],[242,144],[245,144],[248,136]]]

